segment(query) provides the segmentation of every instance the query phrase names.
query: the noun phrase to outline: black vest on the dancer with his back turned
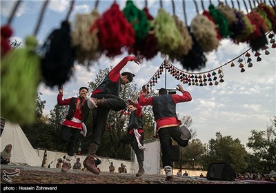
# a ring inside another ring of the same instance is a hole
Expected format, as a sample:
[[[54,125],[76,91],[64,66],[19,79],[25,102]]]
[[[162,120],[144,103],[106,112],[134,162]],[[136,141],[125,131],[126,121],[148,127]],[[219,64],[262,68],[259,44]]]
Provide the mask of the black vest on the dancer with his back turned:
[[[152,110],[155,120],[165,117],[176,117],[176,104],[172,100],[172,95],[163,94],[160,96],[153,96]]]

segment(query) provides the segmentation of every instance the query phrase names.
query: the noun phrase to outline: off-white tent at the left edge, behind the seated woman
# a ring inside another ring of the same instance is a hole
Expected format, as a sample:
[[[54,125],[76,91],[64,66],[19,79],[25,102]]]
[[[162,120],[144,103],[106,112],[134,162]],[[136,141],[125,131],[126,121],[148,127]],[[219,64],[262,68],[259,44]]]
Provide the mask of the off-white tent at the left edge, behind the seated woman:
[[[17,123],[5,121],[5,128],[1,134],[1,150],[3,151],[8,144],[12,144],[12,156],[10,164],[30,165],[41,167],[42,160],[37,152],[32,148],[30,141]]]

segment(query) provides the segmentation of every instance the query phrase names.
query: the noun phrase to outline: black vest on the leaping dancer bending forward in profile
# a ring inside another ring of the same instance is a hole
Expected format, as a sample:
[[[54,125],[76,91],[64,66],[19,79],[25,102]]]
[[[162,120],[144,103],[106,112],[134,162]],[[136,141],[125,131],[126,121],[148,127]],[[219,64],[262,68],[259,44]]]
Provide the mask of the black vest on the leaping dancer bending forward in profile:
[[[112,82],[107,75],[97,89],[102,90],[103,91],[102,93],[119,96],[119,93],[121,91],[121,77],[119,77],[119,81]]]

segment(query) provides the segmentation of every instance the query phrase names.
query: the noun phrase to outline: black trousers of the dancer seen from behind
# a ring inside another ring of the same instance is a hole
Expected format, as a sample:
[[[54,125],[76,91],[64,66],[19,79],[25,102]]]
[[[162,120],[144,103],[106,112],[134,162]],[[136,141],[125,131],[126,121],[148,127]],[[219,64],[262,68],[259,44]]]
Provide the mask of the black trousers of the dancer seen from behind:
[[[172,166],[171,161],[171,148],[172,148],[172,139],[177,142],[181,147],[186,147],[188,145],[188,140],[180,139],[181,130],[179,126],[170,127],[170,128],[161,128],[158,131],[161,152],[162,152],[162,164],[163,167],[166,165]]]

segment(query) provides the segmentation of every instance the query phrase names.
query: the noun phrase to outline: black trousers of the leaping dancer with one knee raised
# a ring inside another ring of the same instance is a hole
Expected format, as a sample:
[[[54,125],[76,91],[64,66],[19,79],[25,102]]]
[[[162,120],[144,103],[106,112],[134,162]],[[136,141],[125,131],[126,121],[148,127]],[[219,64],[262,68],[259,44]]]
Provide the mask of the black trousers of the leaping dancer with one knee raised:
[[[92,98],[108,99],[109,108],[98,106],[92,110],[92,141],[94,143],[101,143],[101,138],[106,130],[106,119],[110,110],[119,111],[126,108],[126,102],[117,96],[111,94],[93,94]]]

